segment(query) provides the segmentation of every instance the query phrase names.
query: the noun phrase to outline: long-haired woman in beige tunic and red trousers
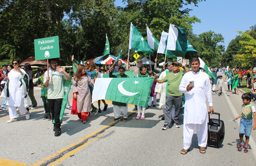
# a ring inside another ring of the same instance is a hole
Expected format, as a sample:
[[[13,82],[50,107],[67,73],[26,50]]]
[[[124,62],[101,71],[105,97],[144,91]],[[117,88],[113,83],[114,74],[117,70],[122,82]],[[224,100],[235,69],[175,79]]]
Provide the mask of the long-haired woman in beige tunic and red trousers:
[[[89,86],[93,86],[93,79],[86,73],[86,67],[79,65],[73,80],[73,94],[77,100],[77,113],[82,123],[87,123],[89,113],[92,111]]]

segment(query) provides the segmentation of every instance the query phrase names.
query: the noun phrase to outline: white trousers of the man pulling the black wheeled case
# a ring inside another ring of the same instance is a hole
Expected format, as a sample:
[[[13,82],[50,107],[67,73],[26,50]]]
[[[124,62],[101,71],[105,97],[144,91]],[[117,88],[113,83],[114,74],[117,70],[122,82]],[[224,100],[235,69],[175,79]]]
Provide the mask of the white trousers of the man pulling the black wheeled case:
[[[192,143],[192,137],[194,134],[195,126],[197,126],[197,140],[198,146],[206,147],[208,136],[208,124],[207,119],[203,124],[183,124],[183,149],[187,150]]]

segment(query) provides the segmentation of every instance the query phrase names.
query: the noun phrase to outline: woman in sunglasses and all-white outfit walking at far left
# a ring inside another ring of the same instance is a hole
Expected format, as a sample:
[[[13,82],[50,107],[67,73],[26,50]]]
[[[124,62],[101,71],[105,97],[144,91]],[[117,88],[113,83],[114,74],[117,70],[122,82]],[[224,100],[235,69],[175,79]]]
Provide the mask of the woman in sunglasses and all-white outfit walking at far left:
[[[9,96],[7,95],[6,105],[8,105],[9,108],[10,120],[7,121],[7,123],[17,121],[16,107],[18,107],[20,115],[26,114],[27,120],[30,118],[29,112],[24,105],[24,98],[28,96],[26,86],[26,82],[28,83],[28,75],[25,70],[18,67],[19,61],[17,59],[12,61],[12,65],[14,68],[9,72],[8,77],[4,75],[5,78],[9,80],[7,89],[9,90]]]

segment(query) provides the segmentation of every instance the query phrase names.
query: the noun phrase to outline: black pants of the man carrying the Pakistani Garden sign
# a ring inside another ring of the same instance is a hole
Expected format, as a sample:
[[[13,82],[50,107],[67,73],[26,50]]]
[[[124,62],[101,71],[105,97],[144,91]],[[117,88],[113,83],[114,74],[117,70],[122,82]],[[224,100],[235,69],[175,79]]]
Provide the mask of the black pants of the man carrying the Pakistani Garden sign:
[[[54,127],[59,128],[61,126],[59,115],[61,110],[61,103],[63,99],[48,99],[49,106],[52,113],[52,121],[54,120]]]

